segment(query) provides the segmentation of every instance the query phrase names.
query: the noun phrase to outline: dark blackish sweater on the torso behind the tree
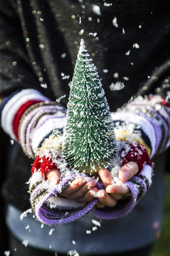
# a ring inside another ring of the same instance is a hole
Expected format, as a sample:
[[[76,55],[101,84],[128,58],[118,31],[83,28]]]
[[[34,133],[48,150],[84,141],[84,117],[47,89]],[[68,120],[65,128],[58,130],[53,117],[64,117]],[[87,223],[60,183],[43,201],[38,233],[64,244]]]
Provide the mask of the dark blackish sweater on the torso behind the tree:
[[[168,86],[161,86],[168,84],[170,72],[166,61],[170,52],[170,3],[165,0],[109,1],[111,6],[104,3],[1,0],[1,95],[32,88],[52,100],[66,94],[61,100],[66,106],[81,38],[102,79],[111,111],[128,102],[132,95],[143,91],[154,93],[158,86],[156,92],[166,95]],[[96,13],[95,5],[100,7],[101,14],[99,9]],[[160,67],[165,61],[165,67]],[[64,76],[69,78],[62,79]],[[125,84],[122,91],[111,90],[110,85],[117,81]],[[45,83],[47,89],[41,86]],[[25,182],[30,176],[32,160],[16,142],[9,147],[8,154],[3,195],[7,202],[25,210],[29,207]]]

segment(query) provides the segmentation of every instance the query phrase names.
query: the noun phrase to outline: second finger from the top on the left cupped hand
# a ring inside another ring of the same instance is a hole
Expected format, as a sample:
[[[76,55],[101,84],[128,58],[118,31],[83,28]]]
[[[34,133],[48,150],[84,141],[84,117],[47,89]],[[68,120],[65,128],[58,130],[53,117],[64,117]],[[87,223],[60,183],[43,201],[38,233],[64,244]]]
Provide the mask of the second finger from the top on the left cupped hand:
[[[88,182],[86,182],[82,187],[80,187],[79,190],[75,191],[74,193],[67,196],[67,198],[71,200],[77,200],[81,198],[82,196],[86,195],[88,193],[89,189],[93,188],[96,185],[96,180],[92,179]]]

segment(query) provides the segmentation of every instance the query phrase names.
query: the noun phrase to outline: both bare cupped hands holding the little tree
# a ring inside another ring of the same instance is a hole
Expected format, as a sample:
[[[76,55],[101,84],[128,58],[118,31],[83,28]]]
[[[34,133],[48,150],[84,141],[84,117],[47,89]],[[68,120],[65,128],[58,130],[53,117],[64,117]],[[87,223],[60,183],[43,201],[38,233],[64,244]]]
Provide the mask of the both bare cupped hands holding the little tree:
[[[125,182],[137,174],[138,171],[138,164],[131,161],[123,165],[118,173],[118,177]],[[94,197],[97,197],[99,201],[97,202],[96,207],[103,208],[105,205],[109,207],[115,206],[117,200],[121,199],[124,195],[131,193],[129,188],[124,189],[122,185],[112,185],[113,178],[108,170],[101,169],[99,171],[99,176],[106,191],[104,189],[98,190],[95,187],[96,180],[91,179],[88,182],[84,182],[84,179],[79,177],[73,180],[71,185],[67,186],[60,195],[79,203],[88,203],[92,201]],[[58,169],[50,170],[46,173],[46,177],[56,185],[60,182],[60,171]]]

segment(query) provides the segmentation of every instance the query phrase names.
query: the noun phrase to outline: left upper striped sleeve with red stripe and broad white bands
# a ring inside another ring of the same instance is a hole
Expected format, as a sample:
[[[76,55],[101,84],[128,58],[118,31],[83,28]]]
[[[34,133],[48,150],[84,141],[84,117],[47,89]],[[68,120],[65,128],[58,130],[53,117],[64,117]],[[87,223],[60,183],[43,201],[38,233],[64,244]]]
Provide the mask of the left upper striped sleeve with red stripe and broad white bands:
[[[0,115],[3,130],[33,159],[43,141],[53,132],[63,132],[65,125],[65,108],[33,89],[3,98]]]

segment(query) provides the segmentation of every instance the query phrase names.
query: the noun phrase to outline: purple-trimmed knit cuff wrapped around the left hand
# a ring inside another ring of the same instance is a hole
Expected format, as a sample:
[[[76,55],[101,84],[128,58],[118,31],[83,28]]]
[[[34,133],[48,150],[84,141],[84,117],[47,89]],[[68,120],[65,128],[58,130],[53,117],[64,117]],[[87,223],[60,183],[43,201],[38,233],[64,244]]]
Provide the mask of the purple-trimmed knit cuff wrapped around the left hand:
[[[54,186],[51,191],[48,191],[48,189],[43,187],[43,182],[34,183],[30,187],[30,203],[35,211],[37,219],[40,222],[47,225],[56,225],[74,221],[88,213],[98,202],[98,199],[94,198],[90,203],[85,204],[85,206],[80,209],[69,209],[69,207],[66,209],[59,209],[57,207],[51,209],[49,207],[49,205],[46,203],[48,198],[54,195],[57,196],[58,191],[61,192],[61,190],[63,190],[70,181],[78,177],[84,177],[84,175],[81,173],[72,173],[71,175],[68,175],[67,177],[63,178],[58,185]],[[98,189],[103,189],[99,182],[97,183],[96,187]]]

